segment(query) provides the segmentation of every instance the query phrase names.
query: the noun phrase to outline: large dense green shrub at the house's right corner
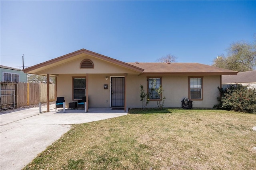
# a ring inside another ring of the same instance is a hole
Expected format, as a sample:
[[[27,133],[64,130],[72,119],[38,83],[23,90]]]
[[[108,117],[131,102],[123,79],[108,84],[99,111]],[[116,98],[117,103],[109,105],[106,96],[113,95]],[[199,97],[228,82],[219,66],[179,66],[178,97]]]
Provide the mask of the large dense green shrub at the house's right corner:
[[[256,90],[249,89],[247,86],[236,84],[223,90],[219,88],[220,96],[217,108],[242,111],[248,113],[256,113]]]

